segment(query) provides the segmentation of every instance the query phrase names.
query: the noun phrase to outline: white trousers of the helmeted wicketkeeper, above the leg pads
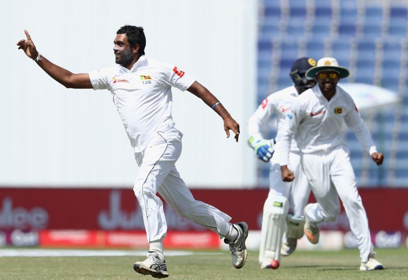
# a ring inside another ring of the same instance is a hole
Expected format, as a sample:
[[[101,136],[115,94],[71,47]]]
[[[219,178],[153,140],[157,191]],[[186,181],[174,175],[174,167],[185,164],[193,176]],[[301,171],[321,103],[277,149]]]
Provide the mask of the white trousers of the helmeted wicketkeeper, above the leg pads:
[[[310,188],[306,175],[300,164],[300,152],[289,153],[288,168],[295,175],[293,182],[282,181],[279,157],[273,155],[269,169],[269,194],[268,197],[285,196],[289,201],[289,211],[296,216],[303,216],[303,209],[308,203]]]

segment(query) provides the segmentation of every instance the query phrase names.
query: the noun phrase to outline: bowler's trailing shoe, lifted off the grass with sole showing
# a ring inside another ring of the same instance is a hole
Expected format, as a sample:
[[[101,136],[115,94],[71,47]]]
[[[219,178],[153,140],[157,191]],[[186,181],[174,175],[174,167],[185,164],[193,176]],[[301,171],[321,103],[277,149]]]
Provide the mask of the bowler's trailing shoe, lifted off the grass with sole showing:
[[[241,268],[244,266],[247,257],[245,240],[248,237],[248,225],[246,222],[239,222],[234,223],[233,226],[238,231],[238,237],[234,241],[224,238],[224,243],[230,245],[234,267]]]

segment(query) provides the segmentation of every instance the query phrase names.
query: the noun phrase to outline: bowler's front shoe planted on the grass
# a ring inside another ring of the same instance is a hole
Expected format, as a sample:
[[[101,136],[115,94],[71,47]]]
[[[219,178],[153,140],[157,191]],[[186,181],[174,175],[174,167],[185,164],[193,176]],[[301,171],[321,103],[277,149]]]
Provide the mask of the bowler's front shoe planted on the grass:
[[[169,276],[166,262],[160,260],[157,252],[147,252],[147,259],[143,262],[136,262],[133,269],[143,275],[151,275],[155,278],[165,278]]]

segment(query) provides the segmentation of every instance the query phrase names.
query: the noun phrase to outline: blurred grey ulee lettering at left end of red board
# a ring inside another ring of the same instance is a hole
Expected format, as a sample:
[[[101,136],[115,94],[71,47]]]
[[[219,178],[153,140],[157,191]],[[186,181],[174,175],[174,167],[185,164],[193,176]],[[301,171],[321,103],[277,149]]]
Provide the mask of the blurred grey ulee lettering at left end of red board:
[[[0,228],[19,228],[20,230],[42,230],[47,226],[48,213],[41,207],[31,210],[15,207],[10,197],[3,199],[0,211]]]

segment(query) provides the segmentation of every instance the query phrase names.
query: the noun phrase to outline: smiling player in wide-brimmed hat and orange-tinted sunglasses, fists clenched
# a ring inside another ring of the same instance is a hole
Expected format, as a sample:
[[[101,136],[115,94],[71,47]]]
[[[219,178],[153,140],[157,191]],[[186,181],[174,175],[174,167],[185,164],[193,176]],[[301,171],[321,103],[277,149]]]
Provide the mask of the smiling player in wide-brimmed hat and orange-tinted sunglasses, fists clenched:
[[[382,269],[375,259],[367,214],[350,163],[350,151],[343,143],[343,121],[377,165],[382,164],[384,155],[377,152],[351,96],[337,86],[339,79],[348,75],[348,69],[339,66],[334,58],[322,58],[306,72],[306,76],[316,78],[318,84],[294,100],[281,130],[282,180],[290,182],[296,177],[288,166],[294,137],[302,153],[301,165],[317,200],[304,208],[305,235],[311,243],[319,241],[318,224],[336,219],[340,197],[351,231],[358,241],[360,270]]]

